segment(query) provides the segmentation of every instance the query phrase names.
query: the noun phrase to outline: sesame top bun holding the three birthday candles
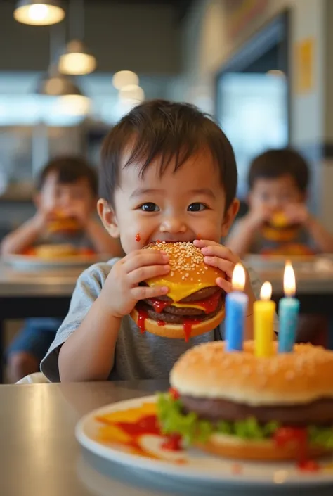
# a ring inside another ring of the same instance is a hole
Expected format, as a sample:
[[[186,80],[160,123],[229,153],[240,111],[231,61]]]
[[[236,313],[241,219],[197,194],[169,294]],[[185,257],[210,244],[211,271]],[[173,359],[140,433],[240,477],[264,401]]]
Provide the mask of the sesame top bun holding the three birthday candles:
[[[306,404],[333,398],[333,352],[310,344],[292,353],[259,358],[254,342],[242,352],[226,352],[225,343],[198,345],[184,353],[170,373],[181,395],[222,398],[251,406]]]

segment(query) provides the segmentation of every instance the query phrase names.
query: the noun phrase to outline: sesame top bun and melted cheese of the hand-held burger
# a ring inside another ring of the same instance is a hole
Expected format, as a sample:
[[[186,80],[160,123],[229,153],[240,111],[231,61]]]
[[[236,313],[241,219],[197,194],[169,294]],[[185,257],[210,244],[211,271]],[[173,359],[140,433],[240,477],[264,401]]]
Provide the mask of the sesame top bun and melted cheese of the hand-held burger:
[[[169,274],[147,279],[148,286],[168,286],[168,296],[179,301],[202,288],[216,286],[218,277],[226,277],[220,269],[204,263],[200,248],[189,242],[166,243],[157,241],[145,247],[147,250],[165,251],[169,255]]]

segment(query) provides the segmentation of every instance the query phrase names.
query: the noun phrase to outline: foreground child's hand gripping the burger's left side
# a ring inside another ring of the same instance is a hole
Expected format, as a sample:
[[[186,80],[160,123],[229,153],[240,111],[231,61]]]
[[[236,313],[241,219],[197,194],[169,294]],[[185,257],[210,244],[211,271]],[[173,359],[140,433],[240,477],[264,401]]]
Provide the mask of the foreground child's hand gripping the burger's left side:
[[[100,293],[114,317],[131,313],[138,300],[165,295],[165,286],[139,286],[151,277],[162,276],[170,270],[169,257],[157,250],[136,250],[119,260],[110,271]]]

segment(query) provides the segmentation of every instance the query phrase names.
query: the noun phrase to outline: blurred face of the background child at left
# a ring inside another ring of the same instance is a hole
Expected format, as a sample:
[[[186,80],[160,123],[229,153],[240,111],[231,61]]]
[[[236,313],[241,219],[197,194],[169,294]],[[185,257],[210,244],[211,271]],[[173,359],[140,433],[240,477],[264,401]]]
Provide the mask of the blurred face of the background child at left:
[[[72,183],[59,183],[58,174],[51,172],[46,177],[37,196],[37,207],[48,212],[61,210],[71,215],[72,210],[84,210],[87,215],[96,205],[89,182],[82,177]]]

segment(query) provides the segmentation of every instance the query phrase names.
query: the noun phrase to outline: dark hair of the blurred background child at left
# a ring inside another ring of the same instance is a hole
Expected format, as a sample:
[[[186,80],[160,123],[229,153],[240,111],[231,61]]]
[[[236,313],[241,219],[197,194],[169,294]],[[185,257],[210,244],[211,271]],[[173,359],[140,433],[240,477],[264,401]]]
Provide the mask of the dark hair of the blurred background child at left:
[[[50,160],[39,174],[37,189],[40,190],[49,174],[55,172],[59,184],[71,184],[79,179],[86,179],[93,196],[98,195],[98,177],[96,170],[81,157],[64,155]]]

